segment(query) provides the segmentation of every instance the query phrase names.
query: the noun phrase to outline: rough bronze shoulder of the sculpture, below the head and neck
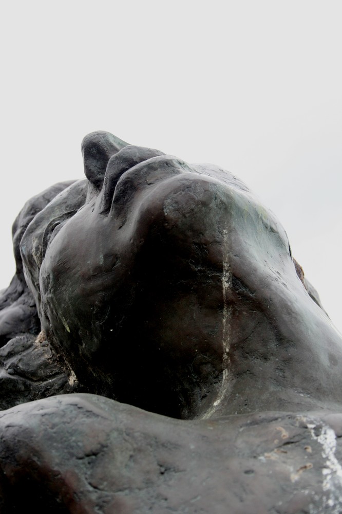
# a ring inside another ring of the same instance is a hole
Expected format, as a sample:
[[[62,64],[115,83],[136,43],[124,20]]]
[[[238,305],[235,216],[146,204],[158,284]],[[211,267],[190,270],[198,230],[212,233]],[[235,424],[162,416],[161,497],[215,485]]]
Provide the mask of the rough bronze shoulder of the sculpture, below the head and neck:
[[[66,482],[73,469],[75,476],[88,476],[92,487],[76,481],[68,491],[60,488],[62,505],[77,495],[80,508],[95,509],[106,499],[122,513],[168,508],[223,513],[227,505],[232,513],[333,513],[342,507],[342,413],[265,412],[181,421],[71,394],[4,411],[0,433],[7,495],[27,474],[36,480],[27,453],[30,440],[36,462],[44,455],[39,476],[44,475],[45,504],[55,495],[53,476],[58,473]],[[13,452],[15,460],[8,458]]]

